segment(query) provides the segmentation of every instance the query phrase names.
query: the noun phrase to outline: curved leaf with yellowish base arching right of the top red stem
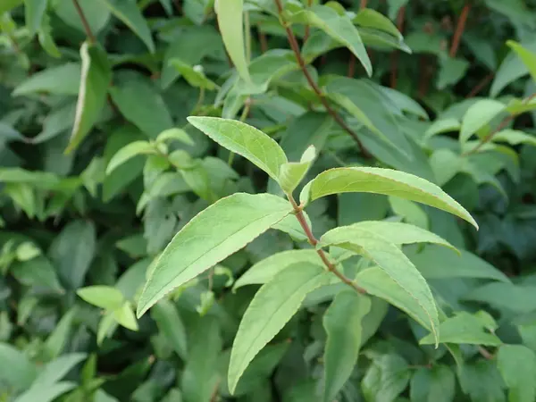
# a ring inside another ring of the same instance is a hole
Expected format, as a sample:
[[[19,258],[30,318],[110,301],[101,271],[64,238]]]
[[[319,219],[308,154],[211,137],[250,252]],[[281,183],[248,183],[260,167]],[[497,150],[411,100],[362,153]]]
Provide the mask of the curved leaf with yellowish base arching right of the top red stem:
[[[372,75],[373,66],[364,48],[363,40],[347,15],[339,15],[330,6],[316,4],[313,7],[290,14],[287,19],[290,22],[322,29],[331,38],[347,46],[356,55],[357,60],[363,64],[366,73],[369,76]]]

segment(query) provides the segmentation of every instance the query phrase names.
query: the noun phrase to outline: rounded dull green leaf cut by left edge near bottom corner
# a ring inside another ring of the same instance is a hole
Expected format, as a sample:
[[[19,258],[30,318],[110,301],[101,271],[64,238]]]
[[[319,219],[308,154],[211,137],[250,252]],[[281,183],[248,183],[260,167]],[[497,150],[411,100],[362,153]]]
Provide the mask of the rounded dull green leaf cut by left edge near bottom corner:
[[[12,389],[28,389],[37,376],[35,365],[11,345],[0,343],[0,361],[4,367],[9,367],[9,370],[0,371],[0,381]]]

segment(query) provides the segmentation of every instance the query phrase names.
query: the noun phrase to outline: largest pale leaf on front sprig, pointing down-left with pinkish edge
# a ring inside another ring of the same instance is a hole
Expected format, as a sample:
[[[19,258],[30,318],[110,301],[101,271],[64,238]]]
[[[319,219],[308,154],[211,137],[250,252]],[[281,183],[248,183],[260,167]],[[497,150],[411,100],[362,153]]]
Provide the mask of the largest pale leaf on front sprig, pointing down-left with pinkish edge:
[[[210,205],[175,235],[158,257],[138,301],[138,317],[167,293],[238,251],[290,214],[269,194],[236,193]]]

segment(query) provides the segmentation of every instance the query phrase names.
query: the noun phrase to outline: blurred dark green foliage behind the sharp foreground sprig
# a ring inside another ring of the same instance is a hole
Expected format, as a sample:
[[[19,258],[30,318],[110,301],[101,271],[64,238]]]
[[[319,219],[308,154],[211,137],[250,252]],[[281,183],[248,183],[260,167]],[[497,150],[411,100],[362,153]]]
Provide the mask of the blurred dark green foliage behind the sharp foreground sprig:
[[[247,121],[291,161],[314,144],[312,175],[356,163],[411,172],[439,184],[479,223],[476,232],[437,210],[368,194],[307,208],[315,233],[389,217],[463,250],[457,257],[433,246],[405,249],[438,304],[461,320],[448,343],[456,350],[419,345],[423,327],[375,297],[337,400],[536,400],[536,139],[532,101],[522,104],[534,92],[536,64],[527,68],[507,46],[513,39],[536,51],[534,2],[341,2],[363,17],[354,22],[372,81],[347,48],[320,41],[302,54],[322,90],[361,108],[387,137],[371,134],[332,96],[365,152],[308,87],[272,1],[246,2],[250,73],[265,84],[246,95],[230,90],[236,73],[210,1],[79,3],[88,27],[71,0],[0,4],[1,400],[320,400],[322,317],[331,301],[322,292],[255,358],[237,395],[226,384],[230,346],[257,289],[233,291],[234,281],[270,255],[307,247],[303,241],[269,230],[139,321],[133,316],[147,267],[191,217],[237,191],[276,191],[189,126],[191,114]],[[394,25],[360,13],[365,6]],[[305,26],[292,29],[302,44]],[[91,54],[86,113],[77,117],[88,32],[105,51]],[[170,64],[176,59],[179,67]],[[470,110],[476,136],[460,142]],[[142,155],[138,143],[106,173],[121,148],[172,128],[189,137],[175,131],[159,142],[171,165]],[[93,297],[80,290],[94,285],[109,288]]]

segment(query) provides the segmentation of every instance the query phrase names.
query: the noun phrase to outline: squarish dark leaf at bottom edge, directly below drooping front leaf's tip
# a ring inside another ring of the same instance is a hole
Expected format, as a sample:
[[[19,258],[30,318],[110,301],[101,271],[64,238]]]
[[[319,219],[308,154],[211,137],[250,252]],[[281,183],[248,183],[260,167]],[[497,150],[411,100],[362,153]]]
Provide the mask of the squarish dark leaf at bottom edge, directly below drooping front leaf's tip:
[[[451,402],[456,394],[456,377],[445,365],[418,369],[410,382],[412,402]]]

